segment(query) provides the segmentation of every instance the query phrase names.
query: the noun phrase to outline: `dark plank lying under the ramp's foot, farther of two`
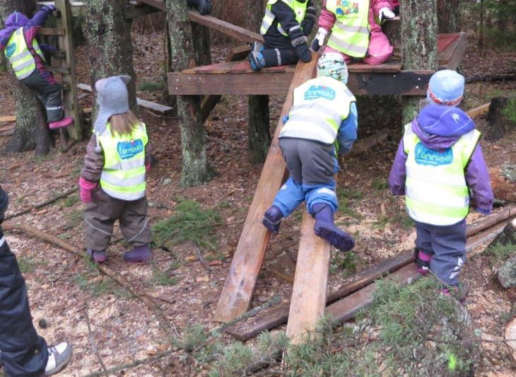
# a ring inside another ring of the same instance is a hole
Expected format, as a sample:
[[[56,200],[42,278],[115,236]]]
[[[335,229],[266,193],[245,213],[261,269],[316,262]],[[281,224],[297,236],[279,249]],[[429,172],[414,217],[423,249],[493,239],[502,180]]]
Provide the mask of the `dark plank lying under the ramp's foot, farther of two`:
[[[380,277],[385,276],[389,272],[394,272],[413,261],[414,253],[409,251],[397,255],[396,257],[382,260],[382,262],[377,263],[376,265],[357,272],[356,274],[353,274],[352,277],[349,277],[348,282],[344,284],[341,289],[338,289],[327,296],[327,303],[332,303],[339,298],[347,296],[348,294],[363,288],[363,286],[374,282],[376,279],[380,279]],[[251,318],[245,323],[228,327],[225,332],[228,332],[228,334],[233,335],[233,337],[236,337],[237,339],[243,341],[248,340],[264,330],[270,330],[286,323],[289,308],[290,304],[277,306],[269,311],[259,313],[259,315]]]

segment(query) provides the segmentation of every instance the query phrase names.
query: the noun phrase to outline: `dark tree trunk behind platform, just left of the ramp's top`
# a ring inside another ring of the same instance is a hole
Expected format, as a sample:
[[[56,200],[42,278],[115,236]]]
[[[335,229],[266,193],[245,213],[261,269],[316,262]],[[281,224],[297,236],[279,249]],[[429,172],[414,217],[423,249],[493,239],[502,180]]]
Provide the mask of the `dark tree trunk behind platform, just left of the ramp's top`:
[[[247,29],[258,32],[264,16],[263,1],[246,1],[245,14]],[[269,95],[249,96],[248,145],[250,161],[263,163],[271,145]]]

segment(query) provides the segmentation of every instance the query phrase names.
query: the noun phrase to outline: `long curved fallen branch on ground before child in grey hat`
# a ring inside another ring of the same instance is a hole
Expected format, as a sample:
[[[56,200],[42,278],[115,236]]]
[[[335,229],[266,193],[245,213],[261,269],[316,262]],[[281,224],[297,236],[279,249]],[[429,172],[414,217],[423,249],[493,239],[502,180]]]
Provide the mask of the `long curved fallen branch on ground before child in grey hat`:
[[[12,222],[7,222],[2,225],[2,228],[4,228],[4,231],[23,231],[25,233],[30,234],[30,236],[34,236],[36,238],[40,238],[41,240],[45,240],[48,243],[53,243],[54,245],[58,245],[60,248],[64,250],[68,250],[71,253],[74,253],[75,255],[78,255],[79,257],[88,257],[86,253],[83,253],[81,248],[76,247],[75,245],[65,241],[61,240],[60,238],[57,238],[55,236],[52,236],[49,233],[45,233],[44,231],[40,231],[38,228],[35,228],[34,226],[25,225],[25,224],[15,224]],[[117,282],[120,286],[122,286],[124,289],[127,289],[133,296],[136,296],[140,299],[140,301],[143,301],[143,303],[148,306],[151,311],[153,311],[154,315],[156,315],[156,318],[158,318],[158,325],[165,332],[165,335],[167,336],[168,341],[172,346],[174,345],[174,342],[172,340],[172,327],[169,324],[168,319],[165,317],[163,312],[161,311],[160,307],[152,300],[151,296],[148,296],[145,292],[139,291],[136,287],[132,286],[131,283],[123,277],[121,274],[113,271],[110,269],[110,267],[107,267],[106,265],[97,265],[98,269],[102,271],[107,277],[110,277],[115,282]]]

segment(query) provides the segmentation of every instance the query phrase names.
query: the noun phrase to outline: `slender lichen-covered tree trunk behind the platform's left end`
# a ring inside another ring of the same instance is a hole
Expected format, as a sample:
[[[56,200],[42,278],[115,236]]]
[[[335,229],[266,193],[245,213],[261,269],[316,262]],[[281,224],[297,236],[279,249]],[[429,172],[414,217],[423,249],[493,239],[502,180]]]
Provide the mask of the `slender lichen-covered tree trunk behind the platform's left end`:
[[[170,30],[171,70],[181,71],[194,66],[192,25],[188,21],[186,1],[167,1],[167,20]],[[183,186],[199,185],[213,176],[202,125],[198,95],[177,95],[177,115],[181,124]]]

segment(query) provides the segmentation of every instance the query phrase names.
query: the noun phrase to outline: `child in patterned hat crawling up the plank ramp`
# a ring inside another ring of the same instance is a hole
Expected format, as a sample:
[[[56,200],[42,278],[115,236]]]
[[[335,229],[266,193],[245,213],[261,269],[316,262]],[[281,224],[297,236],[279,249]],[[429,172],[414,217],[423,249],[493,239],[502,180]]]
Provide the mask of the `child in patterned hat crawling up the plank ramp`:
[[[329,53],[317,62],[317,78],[295,88],[292,110],[279,135],[290,176],[262,221],[269,231],[278,233],[281,219],[304,201],[315,217],[315,234],[342,251],[355,245],[353,238],[334,224],[339,207],[336,154],[351,149],[358,124],[356,100],[347,81],[342,55]]]

